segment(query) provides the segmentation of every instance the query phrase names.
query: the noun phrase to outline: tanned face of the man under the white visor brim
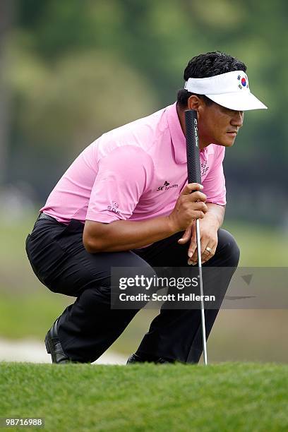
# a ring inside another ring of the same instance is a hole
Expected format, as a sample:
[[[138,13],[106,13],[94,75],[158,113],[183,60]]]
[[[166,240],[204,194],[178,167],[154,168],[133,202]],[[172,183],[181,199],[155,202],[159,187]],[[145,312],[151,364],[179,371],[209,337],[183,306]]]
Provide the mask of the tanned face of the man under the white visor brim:
[[[243,126],[244,112],[224,108],[215,102],[205,104],[198,109],[199,137],[202,145],[210,143],[231,147]]]

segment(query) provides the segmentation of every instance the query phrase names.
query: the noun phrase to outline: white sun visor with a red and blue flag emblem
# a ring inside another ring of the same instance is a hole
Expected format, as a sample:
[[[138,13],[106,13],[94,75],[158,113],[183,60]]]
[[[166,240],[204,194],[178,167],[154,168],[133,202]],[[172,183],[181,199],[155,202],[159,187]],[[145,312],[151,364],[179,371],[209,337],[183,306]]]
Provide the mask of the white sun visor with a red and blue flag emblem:
[[[248,76],[244,71],[232,71],[208,78],[189,78],[184,88],[197,95],[205,95],[213,102],[236,111],[267,109],[252,95]]]

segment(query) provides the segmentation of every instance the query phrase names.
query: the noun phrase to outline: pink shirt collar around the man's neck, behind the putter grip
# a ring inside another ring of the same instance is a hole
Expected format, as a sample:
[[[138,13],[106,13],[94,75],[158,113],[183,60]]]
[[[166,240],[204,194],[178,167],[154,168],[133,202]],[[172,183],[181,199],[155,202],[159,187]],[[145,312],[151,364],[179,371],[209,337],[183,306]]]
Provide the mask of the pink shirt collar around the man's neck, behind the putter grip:
[[[181,128],[181,124],[177,114],[176,103],[177,102],[169,105],[169,107],[167,107],[166,109],[167,122],[172,139],[172,144],[174,147],[175,161],[177,164],[184,164],[187,163],[186,138]],[[205,159],[208,157],[208,155],[211,155],[213,153],[214,145],[212,144],[208,145],[208,147],[203,148],[203,150],[200,150],[200,155],[202,154]]]

